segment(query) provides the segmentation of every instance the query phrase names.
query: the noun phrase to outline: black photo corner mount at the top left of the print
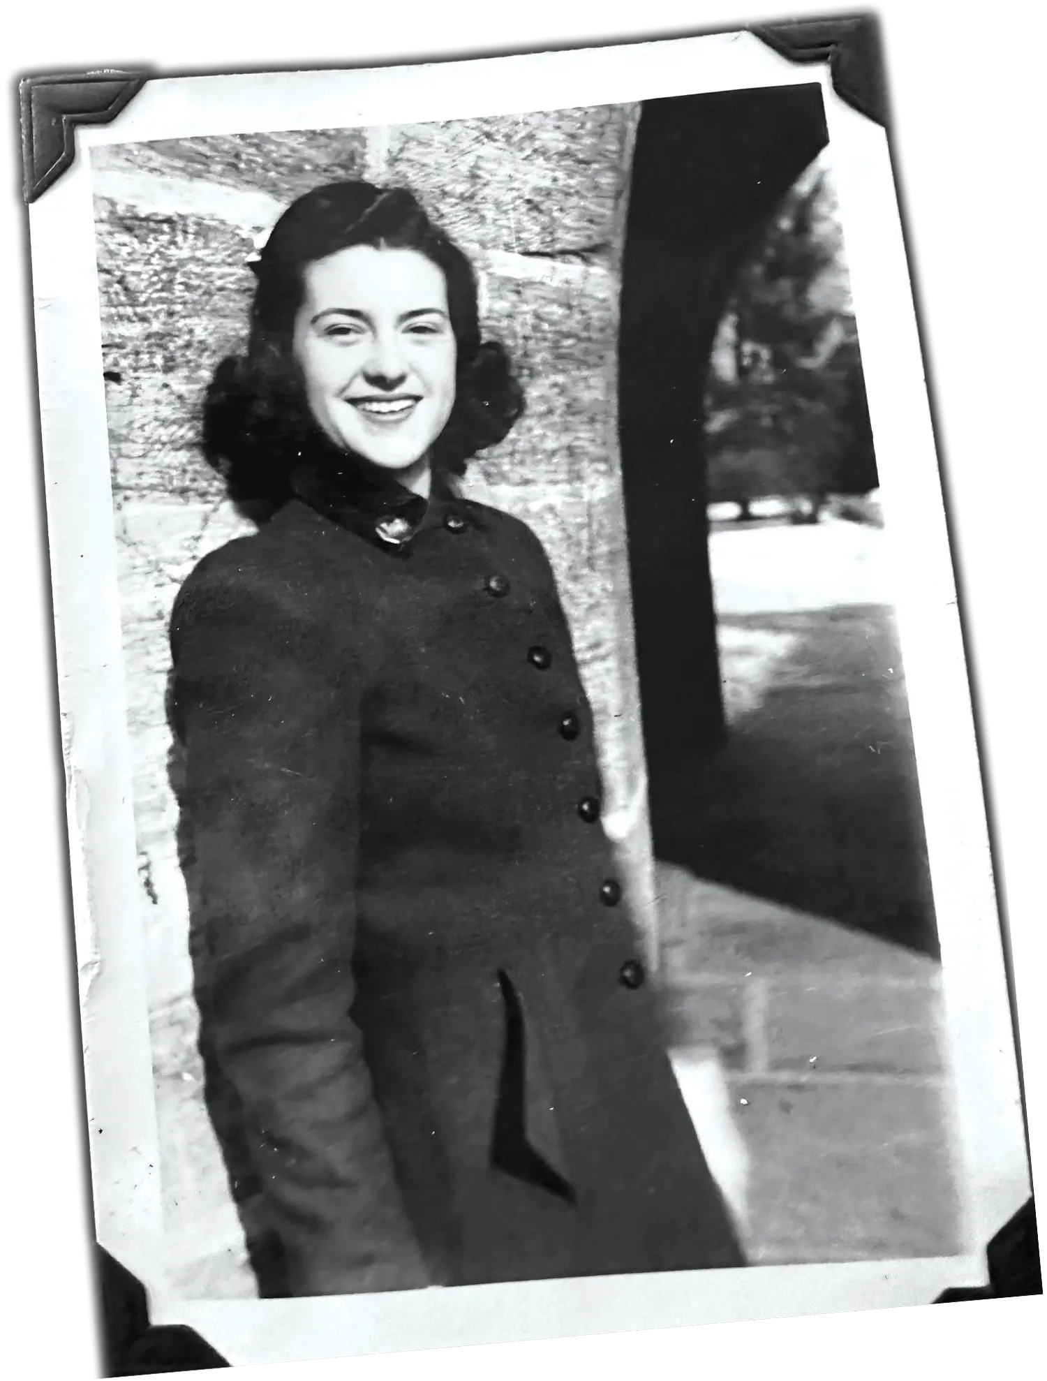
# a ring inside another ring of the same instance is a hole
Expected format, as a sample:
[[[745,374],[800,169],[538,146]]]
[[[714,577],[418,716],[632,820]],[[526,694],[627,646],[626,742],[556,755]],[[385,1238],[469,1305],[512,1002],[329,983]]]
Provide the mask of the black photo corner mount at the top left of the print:
[[[21,84],[26,202],[72,166],[77,124],[109,124],[145,86],[145,72],[84,72],[25,77]]]

